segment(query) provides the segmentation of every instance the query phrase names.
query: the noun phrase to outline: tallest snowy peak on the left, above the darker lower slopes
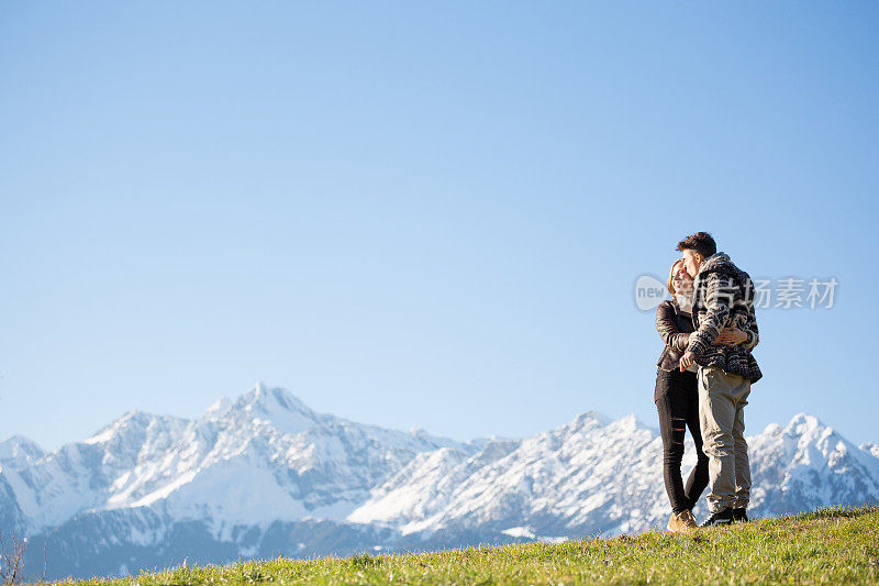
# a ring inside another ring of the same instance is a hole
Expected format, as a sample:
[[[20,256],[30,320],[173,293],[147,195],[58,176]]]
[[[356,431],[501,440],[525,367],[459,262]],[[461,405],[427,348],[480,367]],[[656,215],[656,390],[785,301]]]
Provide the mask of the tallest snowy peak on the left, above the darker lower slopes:
[[[32,530],[89,510],[157,508],[174,519],[251,523],[343,518],[418,453],[458,444],[318,414],[257,383],[194,420],[129,411],[9,484]]]

